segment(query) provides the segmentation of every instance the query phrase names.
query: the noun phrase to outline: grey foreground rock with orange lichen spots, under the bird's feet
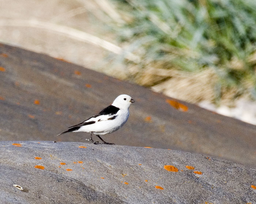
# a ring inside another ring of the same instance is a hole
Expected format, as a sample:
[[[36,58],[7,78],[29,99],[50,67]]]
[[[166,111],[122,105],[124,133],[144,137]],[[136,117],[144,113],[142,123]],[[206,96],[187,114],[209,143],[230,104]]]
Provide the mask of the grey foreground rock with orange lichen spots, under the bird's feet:
[[[4,141],[0,169],[4,204],[256,202],[255,168],[176,150]]]

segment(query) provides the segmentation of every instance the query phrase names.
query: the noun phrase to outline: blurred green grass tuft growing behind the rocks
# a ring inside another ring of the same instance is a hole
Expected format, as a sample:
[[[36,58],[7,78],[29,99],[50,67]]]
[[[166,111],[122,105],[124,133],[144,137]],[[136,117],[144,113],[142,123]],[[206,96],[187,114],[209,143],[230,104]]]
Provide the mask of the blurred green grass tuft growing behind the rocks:
[[[211,68],[221,87],[251,90],[256,96],[255,0],[112,3],[126,19],[112,28],[121,43],[130,44],[129,49],[141,56],[140,67],[190,72]]]

